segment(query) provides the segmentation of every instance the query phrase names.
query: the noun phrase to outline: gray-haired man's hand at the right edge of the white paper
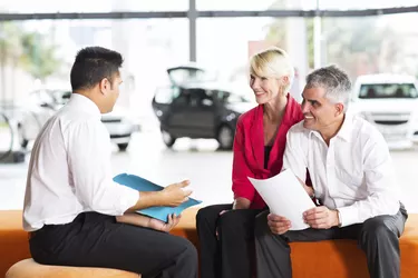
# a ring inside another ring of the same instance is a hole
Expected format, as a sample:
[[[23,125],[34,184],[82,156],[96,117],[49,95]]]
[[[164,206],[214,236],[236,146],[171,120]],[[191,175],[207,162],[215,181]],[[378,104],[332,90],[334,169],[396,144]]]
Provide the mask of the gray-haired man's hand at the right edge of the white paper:
[[[337,210],[331,210],[325,206],[307,210],[303,212],[303,220],[314,229],[329,229],[339,224]]]

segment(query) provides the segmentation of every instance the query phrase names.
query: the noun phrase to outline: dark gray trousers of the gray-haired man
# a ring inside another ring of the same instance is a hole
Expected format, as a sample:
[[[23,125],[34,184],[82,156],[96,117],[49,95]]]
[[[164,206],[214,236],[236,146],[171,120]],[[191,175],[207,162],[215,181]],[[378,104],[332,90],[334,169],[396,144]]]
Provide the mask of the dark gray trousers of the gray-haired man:
[[[342,228],[290,230],[281,236],[271,232],[268,215],[269,211],[262,212],[255,220],[256,277],[291,278],[289,242],[327,239],[357,240],[366,252],[371,278],[400,276],[399,237],[408,218],[402,205],[395,216],[378,216]]]

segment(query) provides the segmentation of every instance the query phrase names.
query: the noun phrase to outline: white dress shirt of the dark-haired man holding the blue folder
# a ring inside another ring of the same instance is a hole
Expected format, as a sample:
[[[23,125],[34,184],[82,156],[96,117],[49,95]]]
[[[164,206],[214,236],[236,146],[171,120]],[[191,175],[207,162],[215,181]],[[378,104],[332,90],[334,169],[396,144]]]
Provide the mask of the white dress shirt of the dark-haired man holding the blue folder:
[[[120,216],[138,191],[113,181],[109,133],[98,107],[72,93],[41,129],[31,152],[23,207],[23,228],[71,222],[97,211]]]

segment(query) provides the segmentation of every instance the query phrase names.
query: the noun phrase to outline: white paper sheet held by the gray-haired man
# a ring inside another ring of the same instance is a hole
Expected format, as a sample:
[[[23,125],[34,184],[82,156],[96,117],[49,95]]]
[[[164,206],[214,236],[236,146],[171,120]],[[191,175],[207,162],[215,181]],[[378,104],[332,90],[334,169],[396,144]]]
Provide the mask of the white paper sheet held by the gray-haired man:
[[[314,208],[315,205],[292,170],[286,169],[269,179],[253,179],[250,177],[249,179],[268,203],[270,211],[291,221],[290,230],[309,228],[303,221],[303,212]]]

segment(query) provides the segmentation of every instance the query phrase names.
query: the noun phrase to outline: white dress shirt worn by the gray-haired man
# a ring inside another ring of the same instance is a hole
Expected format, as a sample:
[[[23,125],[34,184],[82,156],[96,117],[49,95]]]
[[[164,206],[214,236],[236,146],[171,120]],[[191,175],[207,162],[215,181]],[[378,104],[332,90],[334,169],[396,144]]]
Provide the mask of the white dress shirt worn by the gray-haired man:
[[[288,132],[283,169],[304,180],[307,168],[315,197],[340,211],[342,226],[399,210],[387,143],[362,118],[347,113],[329,146],[318,131],[305,129],[303,121],[294,125]]]

